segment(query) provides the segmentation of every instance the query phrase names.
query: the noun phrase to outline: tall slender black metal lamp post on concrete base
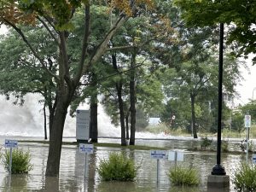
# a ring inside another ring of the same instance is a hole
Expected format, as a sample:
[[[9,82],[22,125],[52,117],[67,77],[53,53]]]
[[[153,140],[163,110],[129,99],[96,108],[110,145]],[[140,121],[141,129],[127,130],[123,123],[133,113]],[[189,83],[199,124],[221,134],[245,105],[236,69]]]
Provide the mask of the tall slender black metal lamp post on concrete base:
[[[224,49],[224,24],[219,26],[219,65],[218,65],[218,131],[217,131],[217,164],[212,168],[212,175],[226,175],[221,160],[221,116],[222,116],[222,82],[223,82],[223,49]]]

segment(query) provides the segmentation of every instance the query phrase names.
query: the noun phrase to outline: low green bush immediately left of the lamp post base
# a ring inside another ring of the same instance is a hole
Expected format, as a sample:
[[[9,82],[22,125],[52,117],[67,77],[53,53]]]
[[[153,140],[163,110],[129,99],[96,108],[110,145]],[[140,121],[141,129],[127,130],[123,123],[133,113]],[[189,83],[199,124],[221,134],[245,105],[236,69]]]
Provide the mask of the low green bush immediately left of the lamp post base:
[[[167,173],[170,181],[176,186],[197,186],[199,184],[198,172],[194,168],[176,166]]]

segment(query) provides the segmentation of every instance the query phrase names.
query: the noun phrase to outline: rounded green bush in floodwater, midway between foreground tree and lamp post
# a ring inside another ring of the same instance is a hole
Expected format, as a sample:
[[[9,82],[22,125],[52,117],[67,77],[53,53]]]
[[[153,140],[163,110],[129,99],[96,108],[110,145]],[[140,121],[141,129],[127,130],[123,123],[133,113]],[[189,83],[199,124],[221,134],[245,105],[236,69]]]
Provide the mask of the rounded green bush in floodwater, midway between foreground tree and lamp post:
[[[110,153],[108,160],[100,160],[97,171],[104,181],[133,181],[137,176],[134,161],[121,153]]]

